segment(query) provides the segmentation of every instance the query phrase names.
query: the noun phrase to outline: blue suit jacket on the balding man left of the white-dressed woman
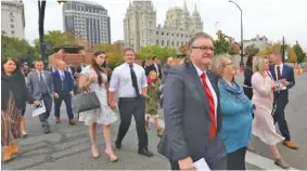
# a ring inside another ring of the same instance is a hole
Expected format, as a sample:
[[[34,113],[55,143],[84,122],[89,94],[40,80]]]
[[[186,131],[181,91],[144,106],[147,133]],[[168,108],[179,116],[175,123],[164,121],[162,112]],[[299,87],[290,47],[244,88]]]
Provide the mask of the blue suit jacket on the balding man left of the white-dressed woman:
[[[52,74],[53,84],[54,84],[54,93],[57,93],[60,96],[69,95],[69,91],[74,91],[74,80],[69,71],[64,70],[65,79],[62,88],[62,80],[59,70],[55,70]]]

